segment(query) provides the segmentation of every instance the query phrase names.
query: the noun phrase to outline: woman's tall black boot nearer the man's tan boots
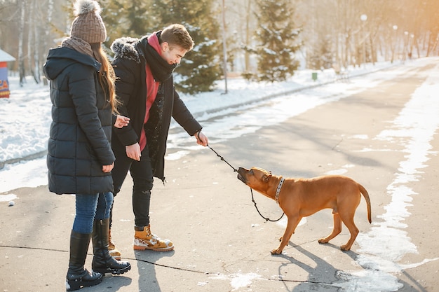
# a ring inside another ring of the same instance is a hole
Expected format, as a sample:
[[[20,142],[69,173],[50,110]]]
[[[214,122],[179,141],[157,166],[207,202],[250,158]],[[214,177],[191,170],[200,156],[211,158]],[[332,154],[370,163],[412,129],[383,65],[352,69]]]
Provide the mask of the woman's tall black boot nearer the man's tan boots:
[[[93,222],[93,262],[91,267],[93,271],[112,274],[123,274],[131,269],[128,262],[115,260],[108,252],[108,229],[109,218],[95,220]]]

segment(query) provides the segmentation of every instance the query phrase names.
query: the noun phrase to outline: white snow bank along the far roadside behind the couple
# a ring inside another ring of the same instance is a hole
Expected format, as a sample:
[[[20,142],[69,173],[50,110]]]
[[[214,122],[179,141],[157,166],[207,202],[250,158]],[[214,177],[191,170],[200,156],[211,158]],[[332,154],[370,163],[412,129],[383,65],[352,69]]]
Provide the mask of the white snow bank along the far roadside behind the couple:
[[[379,63],[375,66],[361,67],[351,69],[351,75],[365,74],[370,71],[377,71],[382,68],[390,67],[389,63]],[[405,67],[404,67],[405,68]],[[259,119],[250,118],[255,112],[245,113],[246,116],[237,116],[239,123],[230,123],[227,119],[228,113],[236,113],[237,111],[250,111],[252,109],[252,103],[264,102],[267,97],[280,95],[278,100],[285,99],[285,92],[294,92],[302,88],[313,87],[315,85],[322,85],[324,83],[330,83],[335,81],[336,75],[332,69],[319,71],[318,80],[313,81],[311,78],[311,72],[309,70],[297,71],[297,74],[290,78],[289,81],[277,82],[277,83],[255,83],[248,82],[242,78],[229,78],[227,81],[227,94],[224,94],[224,81],[217,83],[217,89],[212,92],[205,92],[195,96],[181,95],[188,108],[194,113],[197,120],[203,125],[206,134],[210,139],[210,142],[221,141],[222,139],[230,139],[238,137],[246,132],[254,132],[260,125]],[[353,82],[344,83],[337,81],[332,83],[332,94],[337,92],[343,92],[346,90],[346,86],[350,85],[350,88],[354,88],[355,85],[365,86],[372,84],[369,75],[365,79],[365,84],[357,84]],[[375,78],[375,81],[378,79]],[[0,116],[2,122],[0,123],[0,193],[8,190],[13,190],[20,186],[39,186],[37,182],[38,178],[35,177],[35,173],[32,173],[30,165],[26,167],[22,166],[22,163],[29,163],[27,161],[20,163],[12,163],[20,160],[29,160],[36,157],[43,157],[46,153],[48,132],[50,127],[50,110],[51,103],[49,97],[49,90],[47,85],[35,84],[31,77],[27,77],[27,83],[20,88],[18,83],[18,76],[9,77],[11,97],[8,99],[0,99]],[[355,85],[354,85],[355,84]],[[342,88],[340,88],[340,86]],[[327,93],[329,92],[326,87],[325,90],[319,90],[318,87],[314,88],[315,91],[300,93],[297,92],[293,96],[294,99],[290,99],[287,104],[278,104],[276,106],[264,106],[264,109],[257,109],[259,116],[264,116],[264,122],[273,124],[279,123],[282,120],[290,116],[295,116],[298,113],[311,109],[318,104],[332,101],[332,97]],[[319,92],[320,91],[320,92]],[[303,99],[304,95],[307,96]],[[290,96],[291,98],[291,96]],[[277,101],[275,101],[277,102]],[[290,106],[294,102],[295,111]],[[273,100],[270,100],[273,103]],[[297,106],[300,104],[301,106]],[[276,112],[276,114],[273,114]],[[215,123],[205,123],[206,120],[212,117],[218,117],[215,119]],[[242,119],[242,120],[241,120]],[[259,125],[258,125],[259,124]],[[238,128],[231,128],[234,125],[243,125]],[[176,127],[176,123],[173,123],[171,127]],[[184,132],[177,132],[176,134],[170,134],[168,149],[182,148],[181,144],[185,141],[189,141],[189,137]],[[194,143],[191,139],[188,150],[193,147]],[[181,155],[187,153],[183,151],[181,153],[173,153],[168,151],[171,155],[167,159],[178,159]],[[39,162],[39,164],[38,164]],[[45,159],[37,159],[32,164],[38,164],[45,168]],[[41,173],[40,185],[47,183],[46,176]],[[30,180],[30,178],[33,178]]]

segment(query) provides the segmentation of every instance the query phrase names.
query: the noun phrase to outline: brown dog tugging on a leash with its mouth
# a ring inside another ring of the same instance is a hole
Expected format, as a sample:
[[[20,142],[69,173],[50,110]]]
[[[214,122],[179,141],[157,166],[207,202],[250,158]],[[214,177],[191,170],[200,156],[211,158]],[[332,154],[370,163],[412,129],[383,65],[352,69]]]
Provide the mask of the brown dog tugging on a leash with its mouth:
[[[310,216],[326,208],[332,209],[334,229],[330,235],[319,239],[318,242],[327,243],[342,232],[343,221],[351,232],[351,238],[341,246],[341,249],[349,251],[358,235],[353,216],[360,204],[361,195],[365,197],[367,218],[369,223],[372,223],[367,190],[360,183],[346,176],[328,175],[311,179],[283,179],[282,176],[274,176],[271,172],[261,168],[239,167],[238,179],[262,195],[276,200],[288,217],[287,228],[280,238],[281,244],[271,251],[272,254],[282,253],[302,217]]]

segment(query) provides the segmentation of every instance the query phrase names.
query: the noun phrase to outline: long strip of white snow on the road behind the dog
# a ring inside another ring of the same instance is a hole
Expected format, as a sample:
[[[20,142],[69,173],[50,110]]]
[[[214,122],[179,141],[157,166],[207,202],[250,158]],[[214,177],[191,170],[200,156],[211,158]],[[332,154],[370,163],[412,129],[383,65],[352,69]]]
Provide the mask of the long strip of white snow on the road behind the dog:
[[[403,284],[399,283],[398,278],[392,273],[439,260],[439,258],[424,259],[421,263],[409,265],[398,263],[406,253],[418,253],[417,246],[412,243],[412,239],[404,230],[407,227],[404,223],[405,218],[412,215],[407,207],[412,206],[412,196],[417,195],[407,184],[411,181],[419,181],[421,169],[427,166],[425,163],[428,161],[428,155],[431,155],[430,141],[433,140],[433,135],[439,127],[437,96],[439,65],[436,65],[436,69],[429,74],[388,130],[382,131],[374,138],[400,142],[405,146],[403,152],[407,155],[405,160],[400,161],[393,182],[387,186],[387,193],[392,199],[384,207],[386,213],[378,216],[382,221],[372,223],[371,230],[360,233],[356,239],[360,245],[356,261],[365,270],[352,273],[339,271],[339,276],[344,279],[339,286],[345,291],[397,291],[403,287]],[[428,123],[425,123],[426,120]],[[401,138],[405,138],[404,142]],[[365,151],[381,151],[381,149]]]

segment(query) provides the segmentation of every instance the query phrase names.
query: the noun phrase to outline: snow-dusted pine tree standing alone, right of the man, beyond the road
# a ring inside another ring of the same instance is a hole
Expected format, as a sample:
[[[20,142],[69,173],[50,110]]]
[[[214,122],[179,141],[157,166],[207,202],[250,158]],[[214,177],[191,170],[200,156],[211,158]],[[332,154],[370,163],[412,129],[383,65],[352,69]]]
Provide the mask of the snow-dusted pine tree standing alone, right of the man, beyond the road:
[[[294,8],[290,0],[257,0],[259,27],[256,48],[259,81],[285,81],[299,67],[294,53],[301,29],[294,25]]]

